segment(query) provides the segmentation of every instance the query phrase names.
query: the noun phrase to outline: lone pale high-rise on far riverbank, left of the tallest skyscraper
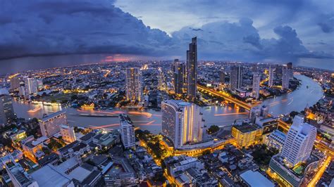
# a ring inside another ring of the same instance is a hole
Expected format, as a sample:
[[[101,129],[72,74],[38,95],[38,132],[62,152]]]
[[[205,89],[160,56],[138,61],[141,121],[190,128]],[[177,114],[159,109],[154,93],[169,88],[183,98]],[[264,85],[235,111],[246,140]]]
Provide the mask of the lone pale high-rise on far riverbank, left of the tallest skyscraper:
[[[138,67],[126,68],[126,98],[128,101],[142,101],[142,72]]]

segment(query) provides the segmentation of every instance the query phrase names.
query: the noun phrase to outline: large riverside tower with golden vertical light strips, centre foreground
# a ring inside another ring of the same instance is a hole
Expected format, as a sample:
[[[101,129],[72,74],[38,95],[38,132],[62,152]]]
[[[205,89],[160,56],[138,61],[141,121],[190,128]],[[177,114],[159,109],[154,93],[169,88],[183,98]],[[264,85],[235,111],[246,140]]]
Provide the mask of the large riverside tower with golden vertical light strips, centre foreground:
[[[162,134],[181,148],[190,142],[202,141],[204,122],[199,106],[181,100],[163,101]]]

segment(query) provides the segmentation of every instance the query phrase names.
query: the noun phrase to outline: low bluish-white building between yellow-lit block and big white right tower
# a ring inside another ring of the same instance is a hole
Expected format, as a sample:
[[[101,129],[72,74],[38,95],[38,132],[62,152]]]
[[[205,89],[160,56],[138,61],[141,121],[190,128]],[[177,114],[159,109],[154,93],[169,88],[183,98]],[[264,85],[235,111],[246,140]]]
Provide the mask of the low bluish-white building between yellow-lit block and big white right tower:
[[[269,148],[276,148],[281,151],[283,149],[285,139],[286,135],[283,132],[275,130],[268,136],[264,137],[264,143]]]

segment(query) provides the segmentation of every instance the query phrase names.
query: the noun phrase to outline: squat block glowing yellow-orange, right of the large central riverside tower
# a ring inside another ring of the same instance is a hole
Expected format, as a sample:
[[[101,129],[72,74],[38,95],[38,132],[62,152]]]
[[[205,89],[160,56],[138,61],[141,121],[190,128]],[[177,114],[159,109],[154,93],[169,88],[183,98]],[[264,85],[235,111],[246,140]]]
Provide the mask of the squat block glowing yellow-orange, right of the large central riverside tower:
[[[262,130],[243,122],[242,124],[233,125],[232,136],[237,141],[238,146],[247,148],[259,142],[262,136]]]

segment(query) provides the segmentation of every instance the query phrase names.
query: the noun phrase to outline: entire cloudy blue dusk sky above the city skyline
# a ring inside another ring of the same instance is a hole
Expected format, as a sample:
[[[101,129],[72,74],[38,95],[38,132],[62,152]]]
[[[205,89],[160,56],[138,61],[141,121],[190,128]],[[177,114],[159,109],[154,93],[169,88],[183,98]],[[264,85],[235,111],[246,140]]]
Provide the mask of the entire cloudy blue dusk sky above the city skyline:
[[[106,56],[185,59],[192,37],[198,40],[199,60],[292,62],[334,70],[331,0],[0,0],[0,4],[2,73],[40,67],[43,59],[52,67]]]

